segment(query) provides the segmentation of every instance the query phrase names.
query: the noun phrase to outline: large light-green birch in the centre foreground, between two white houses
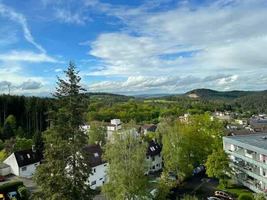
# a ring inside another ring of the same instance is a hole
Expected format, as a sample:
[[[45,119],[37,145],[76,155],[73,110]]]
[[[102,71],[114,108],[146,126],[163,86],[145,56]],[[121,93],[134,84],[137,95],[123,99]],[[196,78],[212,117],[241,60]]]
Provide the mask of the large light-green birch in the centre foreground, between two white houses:
[[[148,196],[147,143],[141,143],[131,130],[122,137],[114,134],[114,143],[104,147],[103,159],[109,163],[109,182],[102,192],[109,200],[137,200]]]

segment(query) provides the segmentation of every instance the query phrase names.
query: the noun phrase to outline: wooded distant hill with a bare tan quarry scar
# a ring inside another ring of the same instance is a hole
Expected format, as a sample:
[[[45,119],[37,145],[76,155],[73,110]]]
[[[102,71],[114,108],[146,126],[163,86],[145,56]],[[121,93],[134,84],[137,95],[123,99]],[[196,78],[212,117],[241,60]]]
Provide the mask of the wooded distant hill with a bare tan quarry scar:
[[[236,99],[247,95],[260,94],[261,92],[263,91],[242,91],[242,90],[216,91],[212,89],[201,88],[188,91],[185,94],[183,94],[182,97],[205,98],[205,99]]]

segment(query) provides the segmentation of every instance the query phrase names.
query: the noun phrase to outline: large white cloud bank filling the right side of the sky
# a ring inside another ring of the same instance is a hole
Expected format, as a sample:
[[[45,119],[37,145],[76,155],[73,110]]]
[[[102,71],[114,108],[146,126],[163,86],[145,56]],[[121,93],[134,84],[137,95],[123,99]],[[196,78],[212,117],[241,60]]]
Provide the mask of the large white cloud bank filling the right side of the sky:
[[[89,3],[125,26],[81,43],[90,45],[88,54],[101,60],[87,74],[135,81],[178,75],[184,77],[178,81],[184,89],[258,88],[256,83],[244,83],[243,77],[267,72],[265,0],[216,0],[198,5],[186,1],[160,9],[164,3],[145,2],[139,7]]]

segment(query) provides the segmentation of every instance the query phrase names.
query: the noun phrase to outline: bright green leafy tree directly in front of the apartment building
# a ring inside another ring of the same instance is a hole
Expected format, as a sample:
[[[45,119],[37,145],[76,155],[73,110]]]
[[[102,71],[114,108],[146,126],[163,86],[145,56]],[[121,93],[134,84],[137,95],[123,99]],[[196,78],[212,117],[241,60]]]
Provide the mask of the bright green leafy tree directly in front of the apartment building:
[[[208,156],[205,164],[207,167],[207,175],[220,179],[220,183],[227,188],[228,180],[233,175],[232,168],[229,166],[230,159],[223,149],[214,149],[212,154]]]

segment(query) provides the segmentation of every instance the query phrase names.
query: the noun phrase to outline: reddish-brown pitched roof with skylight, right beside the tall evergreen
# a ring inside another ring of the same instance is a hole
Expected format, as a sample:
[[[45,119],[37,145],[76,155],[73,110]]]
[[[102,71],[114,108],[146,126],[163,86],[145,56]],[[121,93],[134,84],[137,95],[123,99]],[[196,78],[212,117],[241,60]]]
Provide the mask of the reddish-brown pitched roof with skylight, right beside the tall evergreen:
[[[91,144],[83,148],[87,154],[90,167],[102,165],[106,162],[102,161],[103,150],[99,144]]]

